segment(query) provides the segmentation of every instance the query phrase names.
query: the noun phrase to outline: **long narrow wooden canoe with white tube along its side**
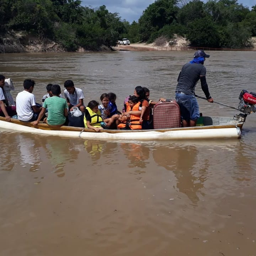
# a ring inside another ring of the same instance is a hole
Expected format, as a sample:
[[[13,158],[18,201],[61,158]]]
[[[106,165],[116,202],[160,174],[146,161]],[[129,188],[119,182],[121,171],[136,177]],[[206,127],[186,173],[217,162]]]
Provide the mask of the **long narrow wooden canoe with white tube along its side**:
[[[47,124],[38,124],[37,128],[32,123],[20,122],[11,119],[6,122],[0,117],[0,128],[15,131],[28,132],[42,135],[57,135],[63,137],[80,137],[85,139],[102,140],[188,140],[188,139],[222,139],[240,138],[243,122],[228,117],[204,117],[205,126],[182,127],[155,130],[100,130],[62,126],[50,128]]]

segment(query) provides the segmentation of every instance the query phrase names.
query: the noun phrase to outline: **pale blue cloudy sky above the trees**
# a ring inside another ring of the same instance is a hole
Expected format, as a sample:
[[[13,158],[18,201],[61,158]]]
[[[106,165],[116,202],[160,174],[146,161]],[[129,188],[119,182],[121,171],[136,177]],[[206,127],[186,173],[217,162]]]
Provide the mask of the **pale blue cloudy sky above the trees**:
[[[81,5],[89,8],[105,5],[109,12],[118,12],[122,20],[132,23],[133,21],[138,21],[143,11],[154,1],[155,0],[84,0]],[[204,0],[204,2],[206,2],[206,0]],[[238,0],[238,3],[251,8],[251,6],[256,5],[256,0]]]

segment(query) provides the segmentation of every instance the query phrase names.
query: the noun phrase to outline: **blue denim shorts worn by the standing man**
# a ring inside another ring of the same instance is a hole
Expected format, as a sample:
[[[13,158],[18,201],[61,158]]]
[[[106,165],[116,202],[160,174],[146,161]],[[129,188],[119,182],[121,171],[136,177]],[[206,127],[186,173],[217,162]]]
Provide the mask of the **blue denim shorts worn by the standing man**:
[[[194,95],[176,93],[175,98],[180,106],[181,120],[197,120],[200,117],[199,106]]]

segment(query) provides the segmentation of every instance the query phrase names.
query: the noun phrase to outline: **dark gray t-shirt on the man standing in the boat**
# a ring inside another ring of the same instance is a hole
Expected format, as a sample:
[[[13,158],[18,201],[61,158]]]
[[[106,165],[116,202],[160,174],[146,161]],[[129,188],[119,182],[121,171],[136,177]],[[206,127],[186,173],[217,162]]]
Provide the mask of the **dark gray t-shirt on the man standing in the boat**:
[[[202,64],[190,62],[186,63],[180,73],[178,84],[175,91],[181,91],[187,95],[194,95],[194,88],[200,76],[206,75],[206,68]]]

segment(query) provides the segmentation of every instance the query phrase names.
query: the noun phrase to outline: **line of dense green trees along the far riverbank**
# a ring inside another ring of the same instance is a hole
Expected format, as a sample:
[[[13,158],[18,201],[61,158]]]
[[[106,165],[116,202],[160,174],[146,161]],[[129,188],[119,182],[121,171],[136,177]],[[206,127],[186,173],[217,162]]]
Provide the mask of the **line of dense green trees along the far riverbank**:
[[[256,36],[256,6],[250,10],[237,0],[156,0],[131,24],[105,5],[81,6],[80,0],[0,0],[0,34],[26,31],[43,41],[52,39],[66,50],[98,50],[131,42],[167,40],[174,34],[192,46],[243,48]],[[1,39],[0,39],[1,43]]]

